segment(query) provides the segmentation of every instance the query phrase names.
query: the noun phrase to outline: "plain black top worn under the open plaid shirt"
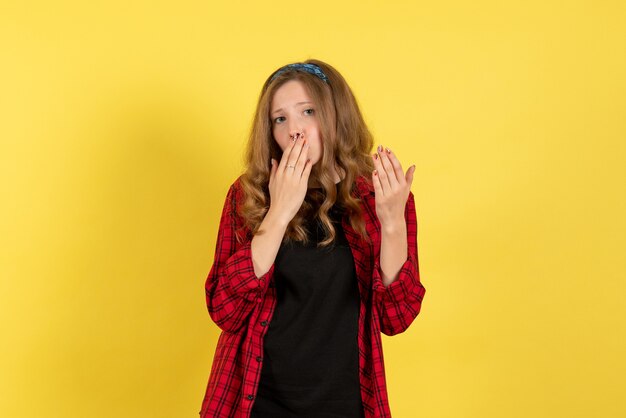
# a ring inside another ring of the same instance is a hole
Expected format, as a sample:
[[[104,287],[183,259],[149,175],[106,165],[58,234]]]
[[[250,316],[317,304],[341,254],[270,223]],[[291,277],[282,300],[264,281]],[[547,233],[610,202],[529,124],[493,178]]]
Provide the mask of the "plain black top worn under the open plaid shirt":
[[[276,255],[277,304],[264,338],[252,418],[362,418],[357,343],[359,290],[354,259],[341,226],[329,247],[321,223],[311,241],[283,243]]]

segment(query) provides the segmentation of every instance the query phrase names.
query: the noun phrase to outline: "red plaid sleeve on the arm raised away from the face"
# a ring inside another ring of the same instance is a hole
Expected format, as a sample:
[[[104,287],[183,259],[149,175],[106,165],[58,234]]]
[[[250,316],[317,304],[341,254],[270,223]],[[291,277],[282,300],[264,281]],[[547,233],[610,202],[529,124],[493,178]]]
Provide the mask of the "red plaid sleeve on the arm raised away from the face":
[[[426,289],[420,281],[417,257],[417,217],[415,199],[409,192],[404,218],[407,227],[407,259],[398,277],[385,287],[380,269],[380,256],[374,262],[373,289],[380,312],[380,330],[386,335],[404,332],[417,317]]]

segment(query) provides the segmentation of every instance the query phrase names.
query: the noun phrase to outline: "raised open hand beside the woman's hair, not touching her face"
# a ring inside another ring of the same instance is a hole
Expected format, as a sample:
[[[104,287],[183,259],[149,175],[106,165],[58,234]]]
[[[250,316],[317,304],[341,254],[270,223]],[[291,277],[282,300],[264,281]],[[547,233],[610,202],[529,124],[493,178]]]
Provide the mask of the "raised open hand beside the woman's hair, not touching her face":
[[[389,148],[383,150],[382,145],[378,146],[378,152],[374,153],[372,159],[376,168],[372,172],[376,215],[381,228],[405,228],[404,210],[413,183],[415,165],[409,167],[405,175],[395,154]]]

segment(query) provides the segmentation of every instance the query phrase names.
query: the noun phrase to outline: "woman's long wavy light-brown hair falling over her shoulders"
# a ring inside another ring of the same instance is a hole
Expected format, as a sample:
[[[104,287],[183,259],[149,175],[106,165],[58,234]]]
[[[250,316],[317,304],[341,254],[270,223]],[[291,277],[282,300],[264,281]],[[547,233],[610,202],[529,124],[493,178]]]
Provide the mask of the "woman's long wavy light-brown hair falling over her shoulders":
[[[318,247],[333,243],[335,228],[328,212],[337,203],[337,207],[349,216],[352,228],[369,241],[359,199],[352,197],[351,192],[358,176],[362,175],[369,181],[370,173],[374,170],[370,156],[374,144],[372,134],[363,120],[352,90],[341,74],[329,64],[316,59],[302,62],[304,63],[319,66],[326,74],[328,83],[316,75],[294,70],[283,72],[272,80],[272,76],[280,68],[267,78],[259,95],[246,146],[245,172],[240,177],[245,198],[239,214],[253,235],[263,233],[259,227],[270,206],[270,158],[278,162],[282,156],[282,150],[272,134],[271,102],[280,86],[289,80],[298,80],[309,93],[319,119],[322,157],[312,167],[309,177],[321,187],[308,189],[300,210],[285,231],[283,240],[307,243],[308,231],[304,221],[318,219],[326,233],[326,238]],[[331,176],[333,167],[338,173],[344,174],[339,188]]]

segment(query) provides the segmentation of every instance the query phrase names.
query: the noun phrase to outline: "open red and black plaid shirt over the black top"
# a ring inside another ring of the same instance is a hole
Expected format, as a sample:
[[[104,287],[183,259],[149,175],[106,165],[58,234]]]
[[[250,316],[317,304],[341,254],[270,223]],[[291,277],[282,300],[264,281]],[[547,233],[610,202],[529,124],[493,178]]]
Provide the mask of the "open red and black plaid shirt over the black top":
[[[352,250],[360,293],[358,323],[359,381],[366,418],[391,417],[380,333],[406,330],[420,312],[426,289],[419,276],[417,220],[413,193],[405,209],[408,255],[397,279],[383,285],[380,271],[380,223],[376,217],[374,187],[358,177],[352,195],[361,199],[367,233],[361,239],[347,218],[342,225]],[[221,329],[215,350],[201,418],[248,418],[256,396],[263,361],[263,337],[276,306],[274,264],[257,278],[252,265],[251,239],[237,242],[243,225],[236,208],[241,202],[239,179],[226,196],[213,266],[205,282],[206,303]],[[248,234],[248,237],[250,235]]]

